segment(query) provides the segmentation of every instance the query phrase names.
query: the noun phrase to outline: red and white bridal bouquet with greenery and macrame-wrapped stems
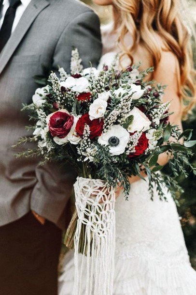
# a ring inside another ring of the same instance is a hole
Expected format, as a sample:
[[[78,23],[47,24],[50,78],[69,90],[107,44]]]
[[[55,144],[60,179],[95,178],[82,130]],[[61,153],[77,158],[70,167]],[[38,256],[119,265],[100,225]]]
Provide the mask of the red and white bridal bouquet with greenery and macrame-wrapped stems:
[[[65,242],[75,248],[76,266],[79,252],[87,257],[86,294],[94,288],[95,294],[112,295],[115,188],[122,186],[128,198],[128,177],[142,178],[145,169],[152,198],[154,186],[164,198],[163,178],[156,173],[162,168],[157,163],[162,153],[168,153],[173,171],[165,177],[169,188],[179,189],[174,177],[186,174],[185,166],[194,170],[188,161],[189,147],[195,144],[191,130],[181,134],[178,126],[168,123],[169,103],[161,101],[164,87],[144,82],[153,68],[140,73],[139,66],[128,66],[120,71],[117,60],[102,70],[83,69],[74,49],[70,74],[59,68],[58,78],[52,72],[48,85],[37,89],[32,104],[23,107],[36,123],[28,127],[33,135],[19,143],[35,141],[37,146],[19,156],[42,156],[42,163],[67,160],[78,171],[76,211]],[[75,295],[80,294],[79,277],[76,267]]]

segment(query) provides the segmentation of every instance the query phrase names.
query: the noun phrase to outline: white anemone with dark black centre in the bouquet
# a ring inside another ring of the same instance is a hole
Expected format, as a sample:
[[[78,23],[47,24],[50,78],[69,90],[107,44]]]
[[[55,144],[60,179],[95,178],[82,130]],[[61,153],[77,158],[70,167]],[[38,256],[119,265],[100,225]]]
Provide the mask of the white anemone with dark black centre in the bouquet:
[[[101,145],[109,145],[111,155],[121,155],[125,152],[129,140],[128,131],[121,125],[113,125],[110,130],[98,138]]]

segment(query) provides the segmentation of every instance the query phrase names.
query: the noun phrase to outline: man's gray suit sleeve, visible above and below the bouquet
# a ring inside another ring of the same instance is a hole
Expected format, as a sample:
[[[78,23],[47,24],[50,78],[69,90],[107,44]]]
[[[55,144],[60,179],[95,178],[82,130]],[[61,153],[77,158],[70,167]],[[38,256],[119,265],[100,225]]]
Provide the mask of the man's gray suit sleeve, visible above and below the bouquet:
[[[53,68],[58,65],[70,72],[72,47],[79,50],[84,67],[97,66],[101,56],[101,38],[98,16],[92,11],[76,17],[61,33],[53,56]],[[34,186],[30,208],[48,220],[60,224],[68,212],[64,212],[70,199],[76,171],[70,165],[48,163],[36,168],[37,184]],[[63,218],[64,217],[64,218]],[[59,219],[62,219],[59,223]]]

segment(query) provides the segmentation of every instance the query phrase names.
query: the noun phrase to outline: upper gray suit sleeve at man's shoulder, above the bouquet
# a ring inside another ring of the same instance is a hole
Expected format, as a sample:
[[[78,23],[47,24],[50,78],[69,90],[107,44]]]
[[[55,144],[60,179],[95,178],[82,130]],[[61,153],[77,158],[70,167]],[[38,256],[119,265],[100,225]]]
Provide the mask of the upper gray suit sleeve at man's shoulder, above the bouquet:
[[[92,12],[85,12],[70,22],[62,32],[55,49],[53,68],[64,67],[70,72],[71,50],[76,47],[84,67],[89,62],[97,67],[102,53],[100,36],[100,22],[98,16]]]

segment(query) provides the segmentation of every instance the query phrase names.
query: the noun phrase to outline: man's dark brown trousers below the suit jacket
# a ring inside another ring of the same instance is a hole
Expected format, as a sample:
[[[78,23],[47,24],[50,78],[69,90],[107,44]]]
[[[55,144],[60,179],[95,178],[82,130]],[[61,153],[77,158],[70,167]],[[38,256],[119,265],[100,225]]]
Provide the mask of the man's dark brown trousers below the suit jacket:
[[[0,295],[57,295],[61,230],[29,212],[0,227]]]

